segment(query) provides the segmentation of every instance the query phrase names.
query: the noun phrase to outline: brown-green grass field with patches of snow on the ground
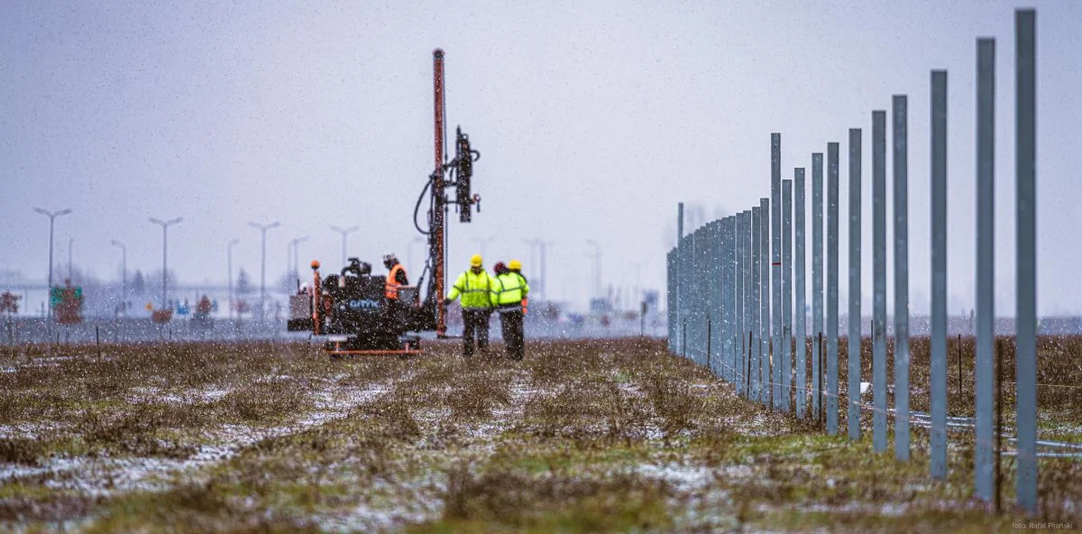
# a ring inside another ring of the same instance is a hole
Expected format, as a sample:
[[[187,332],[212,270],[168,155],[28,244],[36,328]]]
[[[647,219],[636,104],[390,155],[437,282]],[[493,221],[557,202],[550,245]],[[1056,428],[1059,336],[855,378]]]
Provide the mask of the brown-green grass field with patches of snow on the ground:
[[[463,360],[454,343],[338,362],[272,343],[24,352],[0,374],[0,531],[988,532],[1032,520],[972,500],[965,434],[935,482],[923,430],[913,461],[896,463],[870,438],[827,438],[744,401],[662,341],[527,351],[522,363]],[[1082,461],[1041,469],[1039,520],[1080,528]],[[1011,503],[1013,479],[1004,487]]]

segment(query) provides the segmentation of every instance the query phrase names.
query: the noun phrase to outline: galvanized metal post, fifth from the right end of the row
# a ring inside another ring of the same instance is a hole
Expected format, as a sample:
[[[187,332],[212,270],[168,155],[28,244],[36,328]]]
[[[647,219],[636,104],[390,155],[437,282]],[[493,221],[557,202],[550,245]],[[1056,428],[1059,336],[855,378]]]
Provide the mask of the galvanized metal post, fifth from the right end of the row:
[[[872,444],[886,451],[886,112],[872,112]]]

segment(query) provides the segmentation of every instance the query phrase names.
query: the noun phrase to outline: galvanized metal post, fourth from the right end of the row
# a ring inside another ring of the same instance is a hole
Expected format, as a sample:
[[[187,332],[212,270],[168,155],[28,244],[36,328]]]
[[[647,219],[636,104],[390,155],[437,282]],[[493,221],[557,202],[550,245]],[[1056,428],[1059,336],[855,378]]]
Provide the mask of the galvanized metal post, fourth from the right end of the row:
[[[892,99],[894,114],[894,457],[909,460],[909,147],[908,100]]]

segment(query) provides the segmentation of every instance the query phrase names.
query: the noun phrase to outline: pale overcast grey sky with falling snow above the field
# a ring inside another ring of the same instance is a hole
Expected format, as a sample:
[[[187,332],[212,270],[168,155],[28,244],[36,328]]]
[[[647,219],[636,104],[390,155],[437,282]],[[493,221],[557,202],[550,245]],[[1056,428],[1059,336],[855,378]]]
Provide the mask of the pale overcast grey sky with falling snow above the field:
[[[286,243],[339,263],[328,226],[358,224],[352,252],[404,260],[431,167],[432,50],[447,52],[451,130],[483,154],[481,212],[451,229],[451,272],[498,236],[555,242],[550,292],[584,301],[590,247],[606,283],[662,288],[676,203],[708,216],[769,196],[769,133],[783,177],[865,129],[865,265],[871,265],[871,110],[910,95],[914,312],[928,295],[928,71],[949,70],[951,311],[972,305],[974,63],[997,38],[997,309],[1014,310],[1014,8],[1005,1],[860,2],[92,2],[0,3],[0,268],[41,279],[48,221],[57,255],[119,272],[160,269],[170,231],[182,282],[259,271],[249,220],[268,234],[268,278]],[[1038,288],[1042,314],[1082,312],[1082,2],[1038,5]],[[889,164],[888,164],[889,169]],[[808,175],[810,185],[810,173]],[[810,197],[810,195],[808,195]],[[846,231],[842,230],[842,250]],[[414,246],[414,265],[421,247]],[[846,255],[842,269],[846,272]],[[527,263],[536,273],[537,265]],[[537,274],[535,274],[537,276]],[[845,284],[842,284],[844,302]],[[870,302],[871,273],[866,269]],[[866,304],[869,305],[869,304]]]

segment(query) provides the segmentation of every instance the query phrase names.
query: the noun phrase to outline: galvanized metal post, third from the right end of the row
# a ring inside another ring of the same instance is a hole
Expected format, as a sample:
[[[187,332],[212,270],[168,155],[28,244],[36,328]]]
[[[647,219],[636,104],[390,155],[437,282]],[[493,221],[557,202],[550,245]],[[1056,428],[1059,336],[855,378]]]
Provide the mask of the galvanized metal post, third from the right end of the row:
[[[932,478],[947,478],[947,71],[932,71]]]

